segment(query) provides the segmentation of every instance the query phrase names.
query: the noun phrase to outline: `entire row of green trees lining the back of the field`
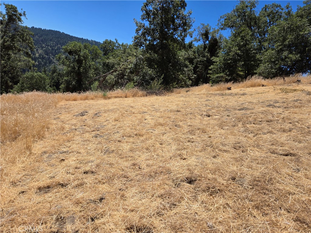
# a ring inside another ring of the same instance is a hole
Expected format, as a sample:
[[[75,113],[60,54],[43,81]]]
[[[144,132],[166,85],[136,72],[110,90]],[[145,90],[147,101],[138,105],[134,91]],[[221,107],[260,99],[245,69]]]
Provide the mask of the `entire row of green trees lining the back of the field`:
[[[311,72],[311,1],[293,12],[290,4],[239,1],[220,16],[218,27],[192,30],[185,1],[146,1],[134,19],[132,44],[117,39],[100,46],[72,41],[58,65],[38,72],[31,59],[33,33],[17,7],[1,12],[1,94],[24,91],[81,92],[139,87],[149,90],[239,82],[253,75],[274,78]],[[221,34],[230,30],[228,38]],[[187,36],[192,41],[185,43]]]

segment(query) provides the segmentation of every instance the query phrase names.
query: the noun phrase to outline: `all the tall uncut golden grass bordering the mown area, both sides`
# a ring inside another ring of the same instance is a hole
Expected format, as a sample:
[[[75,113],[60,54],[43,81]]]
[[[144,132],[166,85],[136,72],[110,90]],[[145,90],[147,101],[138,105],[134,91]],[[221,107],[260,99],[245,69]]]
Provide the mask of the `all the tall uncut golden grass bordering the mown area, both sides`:
[[[214,86],[202,85],[193,88],[176,89],[173,94],[187,92],[224,91],[227,87],[232,89],[262,87],[262,86],[283,86],[293,84],[297,79],[303,84],[311,84],[311,75],[294,75],[287,77],[285,82],[282,78],[262,79],[253,77],[241,83],[220,83]],[[85,93],[57,93],[47,94],[32,92],[19,95],[7,94],[0,97],[1,100],[1,132],[0,141],[14,141],[21,137],[32,141],[44,135],[49,126],[49,110],[56,107],[62,101],[79,101],[111,98],[133,98],[145,97],[147,93],[139,89],[115,90],[107,93],[85,92]]]

